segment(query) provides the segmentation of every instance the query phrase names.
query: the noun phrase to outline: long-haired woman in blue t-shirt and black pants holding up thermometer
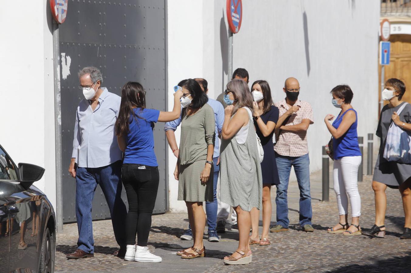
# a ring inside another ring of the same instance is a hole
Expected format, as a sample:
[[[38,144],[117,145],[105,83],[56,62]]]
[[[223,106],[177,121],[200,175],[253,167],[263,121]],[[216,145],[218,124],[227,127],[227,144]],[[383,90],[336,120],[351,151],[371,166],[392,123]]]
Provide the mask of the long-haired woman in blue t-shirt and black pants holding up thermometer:
[[[145,108],[145,91],[141,84],[126,83],[121,91],[121,104],[115,129],[118,146],[124,152],[121,169],[129,211],[126,218],[125,260],[161,262],[162,258],[147,248],[159,184],[157,158],[154,153],[155,122],[170,122],[180,117],[182,91],[174,93],[172,112]],[[137,245],[136,245],[137,234]]]

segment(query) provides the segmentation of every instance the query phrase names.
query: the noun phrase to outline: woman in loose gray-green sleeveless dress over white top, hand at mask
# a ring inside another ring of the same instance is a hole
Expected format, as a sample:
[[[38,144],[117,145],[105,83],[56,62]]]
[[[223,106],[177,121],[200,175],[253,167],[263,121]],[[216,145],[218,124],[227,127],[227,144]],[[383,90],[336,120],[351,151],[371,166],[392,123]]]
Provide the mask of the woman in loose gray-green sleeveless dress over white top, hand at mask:
[[[261,208],[263,179],[256,132],[252,121],[252,96],[247,83],[232,80],[227,84],[220,158],[221,201],[233,206],[238,216],[237,250],[224,257],[225,264],[249,264],[252,253],[248,244],[250,210]]]

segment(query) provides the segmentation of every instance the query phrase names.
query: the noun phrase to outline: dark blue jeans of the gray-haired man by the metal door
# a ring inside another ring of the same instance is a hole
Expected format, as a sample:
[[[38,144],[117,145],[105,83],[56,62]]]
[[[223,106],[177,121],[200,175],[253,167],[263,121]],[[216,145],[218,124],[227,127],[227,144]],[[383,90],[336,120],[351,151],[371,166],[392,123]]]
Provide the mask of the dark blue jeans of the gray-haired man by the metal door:
[[[94,253],[91,207],[97,184],[103,190],[109,206],[114,236],[120,247],[125,247],[125,218],[127,210],[121,200],[121,161],[99,168],[77,167],[76,217],[79,229],[79,249]]]

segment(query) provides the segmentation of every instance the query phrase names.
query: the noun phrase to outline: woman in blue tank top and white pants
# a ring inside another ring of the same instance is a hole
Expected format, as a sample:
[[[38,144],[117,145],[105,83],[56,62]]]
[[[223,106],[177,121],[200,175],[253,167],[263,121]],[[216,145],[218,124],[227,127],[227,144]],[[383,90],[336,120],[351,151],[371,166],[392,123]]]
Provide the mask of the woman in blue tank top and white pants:
[[[334,149],[334,191],[337,195],[339,223],[328,229],[329,233],[361,235],[361,198],[358,192],[357,175],[361,163],[358,146],[357,112],[351,106],[353,92],[348,85],[337,85],[331,90],[332,104],[341,108],[332,125],[334,115],[328,114],[324,122],[332,135]],[[348,198],[351,204],[351,225],[348,225]]]

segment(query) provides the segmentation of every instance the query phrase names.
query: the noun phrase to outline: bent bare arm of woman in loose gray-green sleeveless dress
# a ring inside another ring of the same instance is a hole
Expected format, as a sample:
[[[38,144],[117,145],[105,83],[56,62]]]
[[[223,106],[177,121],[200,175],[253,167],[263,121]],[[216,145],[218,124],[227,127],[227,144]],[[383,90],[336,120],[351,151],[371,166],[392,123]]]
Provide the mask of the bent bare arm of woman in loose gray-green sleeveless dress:
[[[245,109],[238,109],[236,114],[233,116],[233,118],[231,119],[231,112],[233,111],[234,106],[227,106],[225,111],[225,115],[224,115],[224,123],[223,123],[223,129],[221,131],[221,135],[222,138],[224,140],[230,139],[233,137],[233,135],[235,135],[238,130],[240,130],[240,128],[242,126],[246,125],[245,120],[247,120],[247,110]]]

